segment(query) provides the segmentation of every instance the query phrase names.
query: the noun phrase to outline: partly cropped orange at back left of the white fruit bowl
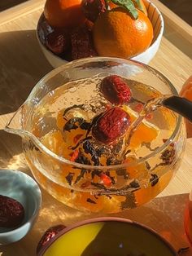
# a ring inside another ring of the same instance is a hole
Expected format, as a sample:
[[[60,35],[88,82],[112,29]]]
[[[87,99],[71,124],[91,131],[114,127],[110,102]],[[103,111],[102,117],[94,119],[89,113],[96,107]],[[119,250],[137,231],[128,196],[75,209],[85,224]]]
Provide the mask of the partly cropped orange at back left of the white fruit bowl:
[[[82,0],[46,0],[44,15],[53,27],[71,28],[83,23]]]

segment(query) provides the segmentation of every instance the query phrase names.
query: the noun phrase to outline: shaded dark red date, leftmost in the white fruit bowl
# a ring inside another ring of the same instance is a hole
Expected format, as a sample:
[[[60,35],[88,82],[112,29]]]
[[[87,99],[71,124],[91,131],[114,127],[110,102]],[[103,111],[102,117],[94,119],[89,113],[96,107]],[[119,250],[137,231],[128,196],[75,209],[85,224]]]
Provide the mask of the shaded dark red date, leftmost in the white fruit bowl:
[[[62,30],[55,30],[46,36],[45,44],[55,55],[60,55],[68,51],[70,45],[68,34]]]

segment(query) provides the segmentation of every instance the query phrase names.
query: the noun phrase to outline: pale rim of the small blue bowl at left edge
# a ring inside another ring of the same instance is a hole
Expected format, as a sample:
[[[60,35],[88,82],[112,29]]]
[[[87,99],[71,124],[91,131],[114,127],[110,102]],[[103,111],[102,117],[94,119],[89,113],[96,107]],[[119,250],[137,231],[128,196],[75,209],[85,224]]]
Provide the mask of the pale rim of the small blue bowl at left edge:
[[[1,239],[1,237],[4,237],[4,236],[16,235],[17,232],[21,232],[21,230],[27,228],[29,222],[33,223],[33,220],[35,218],[37,218],[37,215],[39,213],[39,210],[41,209],[41,204],[42,204],[41,190],[40,190],[37,182],[31,176],[29,176],[28,174],[25,174],[23,171],[20,171],[20,170],[1,169],[0,170],[0,179],[2,179],[2,172],[10,173],[11,175],[15,175],[16,177],[20,177],[17,174],[21,174],[22,176],[24,176],[26,179],[28,179],[30,181],[30,184],[33,183],[33,185],[35,186],[35,188],[37,190],[37,192],[35,193],[36,196],[34,196],[37,200],[36,200],[35,208],[33,210],[33,215],[30,218],[28,218],[19,227],[16,227],[16,228],[13,227],[13,229],[11,229],[7,232],[0,232],[0,239]],[[20,179],[18,179],[18,180],[20,180]]]

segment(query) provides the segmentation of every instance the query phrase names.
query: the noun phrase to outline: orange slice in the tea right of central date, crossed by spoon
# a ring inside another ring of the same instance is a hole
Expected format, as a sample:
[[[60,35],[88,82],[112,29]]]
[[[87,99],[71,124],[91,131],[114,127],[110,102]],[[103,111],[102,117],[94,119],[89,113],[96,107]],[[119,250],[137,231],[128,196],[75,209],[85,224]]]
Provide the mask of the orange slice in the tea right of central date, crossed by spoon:
[[[129,108],[128,106],[124,106],[124,110],[129,113],[131,122],[137,118],[138,113],[134,112],[133,109]],[[142,143],[151,143],[151,141],[156,139],[158,135],[159,128],[151,122],[143,120],[132,135],[130,147],[138,148]]]

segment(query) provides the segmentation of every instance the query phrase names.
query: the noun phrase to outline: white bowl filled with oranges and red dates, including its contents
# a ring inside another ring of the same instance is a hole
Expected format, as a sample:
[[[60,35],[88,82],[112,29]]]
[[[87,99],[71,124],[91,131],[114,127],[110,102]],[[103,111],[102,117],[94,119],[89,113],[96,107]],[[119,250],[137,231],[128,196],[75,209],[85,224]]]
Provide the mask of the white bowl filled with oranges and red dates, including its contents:
[[[37,39],[57,68],[91,56],[148,64],[159,49],[164,20],[149,0],[46,0]]]

